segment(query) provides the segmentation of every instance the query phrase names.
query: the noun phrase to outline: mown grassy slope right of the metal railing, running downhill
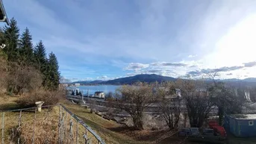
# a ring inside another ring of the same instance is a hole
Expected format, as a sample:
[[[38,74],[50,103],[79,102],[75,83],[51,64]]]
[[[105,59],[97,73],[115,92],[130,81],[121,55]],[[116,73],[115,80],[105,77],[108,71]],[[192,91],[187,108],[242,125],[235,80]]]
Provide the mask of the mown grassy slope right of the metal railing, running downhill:
[[[114,121],[103,119],[101,116],[90,113],[90,109],[72,104],[69,101],[61,101],[72,113],[79,116],[87,125],[89,125],[105,143],[113,144],[148,144],[148,143],[170,143],[172,131],[137,131],[120,125]],[[164,137],[166,136],[166,137]],[[177,143],[177,139],[173,139]]]

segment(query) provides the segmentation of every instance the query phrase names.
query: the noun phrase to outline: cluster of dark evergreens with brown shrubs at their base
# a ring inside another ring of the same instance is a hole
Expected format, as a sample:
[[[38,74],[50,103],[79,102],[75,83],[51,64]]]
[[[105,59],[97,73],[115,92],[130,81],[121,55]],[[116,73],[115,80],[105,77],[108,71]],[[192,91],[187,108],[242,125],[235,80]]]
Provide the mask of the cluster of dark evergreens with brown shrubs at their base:
[[[0,50],[0,92],[22,95],[39,89],[56,91],[60,81],[57,57],[52,52],[46,57],[41,40],[33,47],[28,28],[19,36],[15,19],[0,31],[0,42],[5,44]]]

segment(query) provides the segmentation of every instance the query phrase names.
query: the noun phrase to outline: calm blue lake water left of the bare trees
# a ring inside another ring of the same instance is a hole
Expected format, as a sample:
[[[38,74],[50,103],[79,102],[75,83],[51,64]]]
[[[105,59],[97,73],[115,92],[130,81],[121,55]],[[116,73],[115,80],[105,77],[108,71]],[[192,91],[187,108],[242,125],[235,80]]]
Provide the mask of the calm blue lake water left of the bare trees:
[[[105,94],[109,92],[115,93],[116,89],[119,87],[120,86],[115,86],[115,85],[98,85],[98,86],[68,87],[68,89],[79,89],[84,94],[87,94],[87,90],[89,90],[89,95],[93,95],[96,91],[103,91]]]

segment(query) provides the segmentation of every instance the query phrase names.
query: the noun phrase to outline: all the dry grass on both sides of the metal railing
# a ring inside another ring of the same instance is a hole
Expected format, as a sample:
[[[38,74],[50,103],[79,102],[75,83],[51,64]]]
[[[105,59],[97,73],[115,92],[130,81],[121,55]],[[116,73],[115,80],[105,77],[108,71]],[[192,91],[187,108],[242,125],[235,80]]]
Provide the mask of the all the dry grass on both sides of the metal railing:
[[[0,110],[17,109],[16,99],[19,97],[2,96],[0,97]],[[169,143],[172,139],[173,143],[177,143],[177,139],[169,137],[172,135],[172,131],[137,131],[120,125],[116,122],[103,119],[94,113],[90,113],[90,109],[81,107],[77,104],[72,104],[70,101],[61,100],[61,104],[65,105],[72,113],[75,113],[80,119],[82,119],[93,131],[96,131],[105,143],[113,144],[148,144],[148,143]],[[1,114],[1,113],[0,113]],[[50,119],[46,122],[47,109],[42,113],[37,113],[37,121],[34,123],[34,110],[22,112],[22,127],[21,131],[16,131],[19,124],[19,112],[7,112],[4,115],[4,142],[13,141],[17,142],[17,138],[22,137],[22,142],[31,143],[31,137],[33,136],[33,126],[35,125],[35,142],[46,143],[46,140],[51,140],[49,143],[57,143],[57,125],[59,120],[59,107],[53,107],[49,112]],[[70,116],[68,116],[68,119]],[[1,122],[1,116],[0,116]],[[75,121],[73,121],[75,122]],[[65,123],[65,122],[64,122]],[[1,123],[0,123],[1,125]],[[51,126],[49,126],[51,125]],[[69,125],[66,122],[66,128]],[[74,123],[73,131],[75,137],[76,125]],[[84,129],[81,125],[78,125],[79,143],[83,142]],[[13,134],[14,133],[14,134]],[[1,131],[0,131],[1,134]],[[12,137],[12,135],[14,137]],[[66,135],[65,135],[66,136]],[[1,136],[0,136],[1,137]],[[96,141],[94,140],[94,143]]]

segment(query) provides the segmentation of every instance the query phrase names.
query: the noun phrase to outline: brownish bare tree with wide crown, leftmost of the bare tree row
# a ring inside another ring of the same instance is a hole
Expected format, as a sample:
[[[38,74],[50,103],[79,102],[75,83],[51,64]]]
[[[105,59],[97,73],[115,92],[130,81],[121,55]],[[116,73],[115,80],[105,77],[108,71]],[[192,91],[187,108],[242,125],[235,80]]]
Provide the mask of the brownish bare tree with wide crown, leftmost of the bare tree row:
[[[124,85],[117,90],[121,94],[117,100],[119,108],[131,115],[134,128],[143,129],[143,111],[154,100],[153,88],[153,84],[137,83]]]

